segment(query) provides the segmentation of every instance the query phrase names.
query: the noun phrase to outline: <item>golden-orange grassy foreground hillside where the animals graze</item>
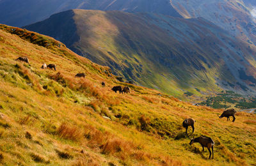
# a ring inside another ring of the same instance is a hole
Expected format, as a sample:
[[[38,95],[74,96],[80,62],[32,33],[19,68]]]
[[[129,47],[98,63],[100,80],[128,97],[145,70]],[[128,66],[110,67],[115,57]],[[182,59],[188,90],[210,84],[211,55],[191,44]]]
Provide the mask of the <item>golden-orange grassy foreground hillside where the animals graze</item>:
[[[42,70],[43,63],[57,71]],[[78,72],[86,78],[75,78]],[[255,165],[255,115],[238,112],[227,122],[216,116],[221,110],[117,82],[109,68],[47,36],[1,25],[0,75],[3,165]],[[115,85],[132,92],[114,93]],[[214,140],[214,160],[182,138],[186,117],[196,119],[191,137]]]

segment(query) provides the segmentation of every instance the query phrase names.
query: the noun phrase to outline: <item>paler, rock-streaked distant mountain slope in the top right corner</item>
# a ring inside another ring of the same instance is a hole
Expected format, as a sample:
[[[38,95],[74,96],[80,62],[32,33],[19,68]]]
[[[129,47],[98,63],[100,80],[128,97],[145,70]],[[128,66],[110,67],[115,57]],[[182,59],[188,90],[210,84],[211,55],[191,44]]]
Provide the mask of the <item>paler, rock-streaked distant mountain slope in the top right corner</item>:
[[[172,0],[171,3],[184,18],[204,17],[232,35],[256,43],[256,22],[251,14],[255,1]]]

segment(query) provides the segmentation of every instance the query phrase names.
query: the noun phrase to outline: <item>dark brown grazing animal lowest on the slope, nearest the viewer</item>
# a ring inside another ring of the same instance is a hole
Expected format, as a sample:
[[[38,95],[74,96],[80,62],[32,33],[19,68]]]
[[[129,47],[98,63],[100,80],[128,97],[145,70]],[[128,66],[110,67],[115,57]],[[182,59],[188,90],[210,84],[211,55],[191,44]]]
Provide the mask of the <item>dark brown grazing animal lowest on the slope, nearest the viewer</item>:
[[[201,135],[200,137],[197,137],[195,139],[194,138],[190,139],[189,145],[192,145],[195,142],[198,142],[199,144],[201,144],[201,146],[203,147],[203,152],[204,152],[204,147],[207,147],[207,149],[210,153],[209,159],[211,158],[211,155],[212,155],[212,159],[213,159],[214,141],[210,137],[205,137],[204,135]],[[211,153],[211,149],[212,149],[212,153]]]

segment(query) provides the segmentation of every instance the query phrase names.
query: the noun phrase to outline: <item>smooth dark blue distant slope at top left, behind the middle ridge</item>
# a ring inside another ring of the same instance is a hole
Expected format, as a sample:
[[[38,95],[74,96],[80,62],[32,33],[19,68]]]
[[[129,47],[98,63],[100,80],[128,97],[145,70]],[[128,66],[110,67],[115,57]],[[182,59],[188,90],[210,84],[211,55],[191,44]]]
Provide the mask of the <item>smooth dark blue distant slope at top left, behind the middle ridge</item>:
[[[47,19],[54,13],[71,9],[141,11],[181,17],[168,0],[2,0],[0,23],[21,27]]]

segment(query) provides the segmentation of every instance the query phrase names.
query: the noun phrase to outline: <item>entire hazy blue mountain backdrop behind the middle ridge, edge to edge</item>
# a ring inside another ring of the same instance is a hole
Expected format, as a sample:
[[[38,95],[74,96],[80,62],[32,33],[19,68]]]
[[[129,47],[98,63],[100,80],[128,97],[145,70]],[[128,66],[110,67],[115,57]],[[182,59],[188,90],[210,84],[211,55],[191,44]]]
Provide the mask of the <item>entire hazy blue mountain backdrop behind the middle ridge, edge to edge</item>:
[[[256,23],[251,13],[255,5],[252,0],[2,0],[0,23],[21,27],[71,9],[150,12],[186,19],[204,17],[230,34],[255,44]]]

